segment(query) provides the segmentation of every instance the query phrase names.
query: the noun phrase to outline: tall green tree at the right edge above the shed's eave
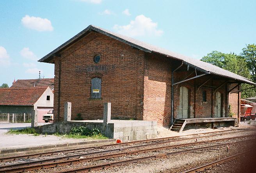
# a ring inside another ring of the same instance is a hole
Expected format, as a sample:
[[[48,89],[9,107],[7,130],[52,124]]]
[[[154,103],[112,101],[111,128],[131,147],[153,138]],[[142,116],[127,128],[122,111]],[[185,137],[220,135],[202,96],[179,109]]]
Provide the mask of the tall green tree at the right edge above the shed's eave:
[[[241,56],[246,59],[247,66],[252,75],[252,81],[256,82],[256,45],[246,45],[246,47],[242,49]]]

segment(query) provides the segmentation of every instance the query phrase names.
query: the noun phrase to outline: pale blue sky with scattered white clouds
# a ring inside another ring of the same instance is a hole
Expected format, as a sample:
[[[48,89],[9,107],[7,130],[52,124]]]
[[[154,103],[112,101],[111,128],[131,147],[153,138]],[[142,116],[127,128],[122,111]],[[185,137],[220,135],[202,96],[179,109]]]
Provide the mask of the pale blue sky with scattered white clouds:
[[[256,43],[255,0],[1,0],[0,85],[54,77],[42,58],[89,24],[200,59]]]

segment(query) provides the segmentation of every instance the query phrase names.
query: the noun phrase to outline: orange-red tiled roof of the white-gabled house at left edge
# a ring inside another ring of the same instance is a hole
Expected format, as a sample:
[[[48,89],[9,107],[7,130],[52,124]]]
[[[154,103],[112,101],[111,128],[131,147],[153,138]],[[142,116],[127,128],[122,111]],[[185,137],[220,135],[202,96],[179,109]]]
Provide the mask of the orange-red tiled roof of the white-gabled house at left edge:
[[[32,106],[48,86],[26,88],[0,88],[0,105]]]

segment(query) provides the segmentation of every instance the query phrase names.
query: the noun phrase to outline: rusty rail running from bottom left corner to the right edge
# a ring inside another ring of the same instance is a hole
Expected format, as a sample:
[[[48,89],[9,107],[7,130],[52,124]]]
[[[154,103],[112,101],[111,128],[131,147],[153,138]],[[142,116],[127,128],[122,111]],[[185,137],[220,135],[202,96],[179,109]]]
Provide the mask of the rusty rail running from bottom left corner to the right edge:
[[[254,135],[256,136],[256,135]],[[244,137],[244,136],[241,136]],[[236,138],[236,137],[231,137]],[[120,153],[115,153],[115,154],[107,154],[104,156],[92,156],[92,157],[86,157],[86,158],[76,158],[76,159],[66,159],[62,161],[49,161],[49,162],[40,162],[38,161],[37,163],[34,163],[31,165],[31,163],[24,163],[24,164],[19,164],[19,165],[7,165],[4,168],[0,168],[0,172],[20,172],[20,171],[29,171],[29,170],[37,170],[37,169],[42,169],[42,168],[50,168],[50,167],[55,167],[55,166],[63,166],[63,165],[68,165],[68,164],[76,164],[80,162],[85,162],[85,161],[95,161],[95,160],[100,160],[100,159],[107,159],[107,158],[112,158],[112,157],[120,157],[120,156],[126,156],[126,155],[132,155],[132,154],[137,154],[137,153],[143,153],[143,152],[150,152],[150,151],[156,151],[156,150],[164,150],[164,149],[172,149],[172,148],[177,148],[177,147],[185,147],[185,146],[191,146],[191,145],[197,145],[205,142],[217,142],[221,140],[226,140],[226,139],[231,139],[231,138],[223,138],[223,139],[217,139],[217,140],[208,140],[208,141],[202,141],[202,142],[192,142],[192,143],[185,143],[185,144],[179,144],[179,145],[170,145],[170,146],[165,146],[165,147],[156,147],[156,148],[150,148],[150,149],[142,149],[142,150],[133,150],[133,151],[124,151]],[[224,143],[224,144],[217,144],[213,146],[224,146],[227,144],[231,143],[241,143],[245,141],[252,141],[251,140],[243,140],[243,141],[238,141],[238,142],[229,142],[229,143]],[[210,146],[211,147],[211,146]],[[208,148],[208,147],[201,147],[201,149]],[[200,149],[196,148],[195,150]],[[190,149],[192,150],[192,149]]]

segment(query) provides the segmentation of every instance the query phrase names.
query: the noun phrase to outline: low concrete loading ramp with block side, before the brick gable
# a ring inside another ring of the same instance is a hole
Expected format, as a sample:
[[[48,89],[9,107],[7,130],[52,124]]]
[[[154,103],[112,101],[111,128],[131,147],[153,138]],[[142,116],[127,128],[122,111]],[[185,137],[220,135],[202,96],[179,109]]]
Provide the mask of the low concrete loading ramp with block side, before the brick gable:
[[[104,136],[120,139],[123,142],[156,138],[157,135],[155,121],[111,120],[108,123],[104,123],[103,120],[63,121],[37,128],[42,134],[66,134],[71,128],[78,126],[85,126],[88,129],[99,128]]]

